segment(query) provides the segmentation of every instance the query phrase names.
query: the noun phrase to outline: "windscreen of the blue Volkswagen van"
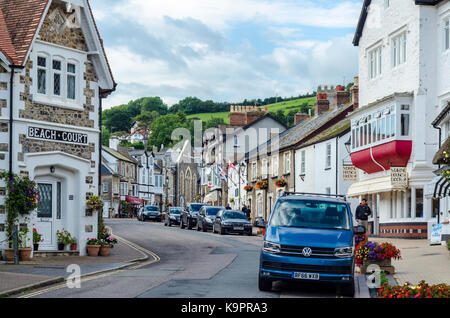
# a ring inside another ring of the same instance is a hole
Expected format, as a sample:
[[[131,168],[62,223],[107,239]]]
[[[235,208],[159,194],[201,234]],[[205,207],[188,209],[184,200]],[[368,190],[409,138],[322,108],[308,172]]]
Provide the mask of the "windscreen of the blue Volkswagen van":
[[[270,226],[350,230],[347,205],[320,200],[280,200]]]

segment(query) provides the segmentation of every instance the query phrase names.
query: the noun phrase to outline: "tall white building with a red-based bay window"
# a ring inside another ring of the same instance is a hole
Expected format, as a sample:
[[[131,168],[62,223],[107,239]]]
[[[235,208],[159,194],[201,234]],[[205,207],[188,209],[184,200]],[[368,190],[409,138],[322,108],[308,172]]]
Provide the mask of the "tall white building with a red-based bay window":
[[[449,1],[365,0],[359,47],[359,108],[350,116],[359,182],[380,236],[427,238],[439,200],[425,196],[438,149],[431,122],[450,99]],[[392,173],[395,171],[394,173]]]

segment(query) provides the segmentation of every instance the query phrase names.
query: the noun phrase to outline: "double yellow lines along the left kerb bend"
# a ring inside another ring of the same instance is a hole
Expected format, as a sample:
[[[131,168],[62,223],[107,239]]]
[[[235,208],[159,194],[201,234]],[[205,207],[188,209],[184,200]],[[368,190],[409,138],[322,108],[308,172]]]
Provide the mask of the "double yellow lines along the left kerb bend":
[[[96,279],[103,278],[103,277],[108,277],[108,276],[111,276],[113,274],[117,274],[117,273],[123,272],[125,270],[136,270],[138,268],[141,268],[143,266],[147,266],[147,265],[150,265],[150,264],[154,264],[154,263],[159,262],[161,260],[161,258],[158,255],[156,255],[155,253],[153,253],[152,251],[149,251],[149,250],[143,248],[142,246],[139,246],[136,243],[130,242],[130,241],[124,239],[123,237],[118,236],[118,235],[115,235],[115,237],[119,241],[122,241],[123,243],[125,243],[127,245],[130,245],[131,247],[133,247],[133,248],[135,248],[135,249],[137,249],[137,250],[139,250],[141,252],[144,252],[144,253],[150,255],[151,257],[153,257],[153,260],[145,261],[145,262],[142,262],[142,263],[139,263],[137,265],[134,265],[134,266],[131,266],[131,267],[127,267],[127,268],[122,268],[122,269],[118,269],[118,270],[112,270],[110,272],[103,273],[103,274],[98,274],[98,275],[96,275],[96,274],[87,274],[89,276],[82,277],[81,278],[81,283],[88,282],[88,281],[91,281],[91,280],[96,280]],[[42,294],[46,294],[46,293],[49,293],[49,292],[52,292],[52,291],[55,291],[55,290],[58,290],[58,289],[62,289],[62,288],[67,288],[66,279],[64,279],[64,283],[61,283],[61,284],[58,284],[58,285],[55,285],[55,286],[52,286],[52,287],[49,287],[49,288],[46,288],[46,289],[43,289],[43,290],[40,290],[40,291],[36,291],[36,292],[32,292],[32,293],[29,293],[29,294],[26,294],[26,295],[22,295],[22,296],[19,296],[18,298],[31,298],[31,297],[35,297],[35,296],[39,296],[39,295],[42,295]]]

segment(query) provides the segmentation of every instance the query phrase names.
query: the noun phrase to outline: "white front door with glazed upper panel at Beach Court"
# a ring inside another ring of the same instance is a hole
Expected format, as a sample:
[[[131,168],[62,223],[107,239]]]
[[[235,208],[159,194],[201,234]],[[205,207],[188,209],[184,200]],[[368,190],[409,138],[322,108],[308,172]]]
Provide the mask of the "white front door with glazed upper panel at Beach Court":
[[[39,249],[54,250],[57,247],[56,228],[61,221],[61,182],[38,182],[37,231],[43,242]]]

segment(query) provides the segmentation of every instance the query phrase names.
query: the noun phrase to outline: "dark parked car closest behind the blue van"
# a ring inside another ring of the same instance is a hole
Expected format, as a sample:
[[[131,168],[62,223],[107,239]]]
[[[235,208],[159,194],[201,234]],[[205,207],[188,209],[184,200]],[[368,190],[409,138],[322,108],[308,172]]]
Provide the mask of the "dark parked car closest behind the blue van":
[[[252,235],[252,224],[242,211],[221,210],[216,215],[213,233],[227,234],[239,233]]]

